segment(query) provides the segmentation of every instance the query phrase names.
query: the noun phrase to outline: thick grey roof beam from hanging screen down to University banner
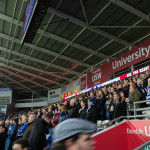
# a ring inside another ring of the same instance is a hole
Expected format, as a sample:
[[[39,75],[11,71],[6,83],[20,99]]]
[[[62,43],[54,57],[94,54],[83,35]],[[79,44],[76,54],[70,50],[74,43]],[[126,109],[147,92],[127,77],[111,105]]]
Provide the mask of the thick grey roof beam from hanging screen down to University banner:
[[[63,12],[61,12],[61,11],[58,11],[58,10],[52,8],[52,7],[49,7],[48,11],[51,12],[51,13],[53,13],[53,14],[55,14],[55,15],[57,15],[57,16],[60,16],[60,17],[62,17],[62,18],[64,18],[64,19],[69,19],[69,21],[71,21],[71,22],[73,22],[73,23],[75,23],[75,24],[77,24],[77,25],[80,25],[80,26],[82,26],[82,27],[86,27],[86,28],[89,29],[90,31],[93,31],[93,32],[95,32],[95,33],[97,33],[97,34],[100,34],[100,35],[102,35],[102,36],[105,36],[105,37],[108,38],[108,39],[112,39],[112,40],[114,40],[114,41],[116,41],[116,42],[119,42],[119,43],[125,45],[125,46],[130,46],[130,43],[129,43],[129,42],[127,42],[127,41],[125,41],[125,40],[122,40],[122,39],[120,39],[120,38],[118,38],[118,37],[116,37],[116,36],[114,36],[114,35],[112,35],[112,34],[110,34],[110,33],[107,33],[107,32],[105,32],[105,31],[103,31],[103,30],[90,27],[90,26],[87,25],[85,22],[83,22],[83,21],[81,21],[81,20],[79,20],[79,19],[76,19],[76,18],[74,18],[74,17],[72,17],[72,16],[70,16],[70,15],[68,15],[68,14],[65,14],[65,13],[63,13]]]

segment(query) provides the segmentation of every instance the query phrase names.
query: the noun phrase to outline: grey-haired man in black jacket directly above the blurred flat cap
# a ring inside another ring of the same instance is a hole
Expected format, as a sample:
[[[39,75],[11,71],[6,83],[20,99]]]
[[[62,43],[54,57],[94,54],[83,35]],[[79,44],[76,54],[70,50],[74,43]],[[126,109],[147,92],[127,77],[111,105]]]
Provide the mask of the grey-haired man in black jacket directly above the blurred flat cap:
[[[70,108],[69,108],[69,116],[70,118],[78,118],[78,108],[76,106],[77,100],[75,98],[72,98],[70,101]]]

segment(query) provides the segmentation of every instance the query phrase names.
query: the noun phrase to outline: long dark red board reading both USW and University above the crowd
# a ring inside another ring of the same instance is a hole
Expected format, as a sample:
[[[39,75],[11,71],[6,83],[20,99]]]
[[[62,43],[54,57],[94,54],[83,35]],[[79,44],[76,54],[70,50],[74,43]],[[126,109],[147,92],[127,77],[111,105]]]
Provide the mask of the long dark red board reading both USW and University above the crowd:
[[[87,88],[109,80],[109,75],[150,58],[150,40],[87,74]],[[125,78],[125,77],[123,77]]]

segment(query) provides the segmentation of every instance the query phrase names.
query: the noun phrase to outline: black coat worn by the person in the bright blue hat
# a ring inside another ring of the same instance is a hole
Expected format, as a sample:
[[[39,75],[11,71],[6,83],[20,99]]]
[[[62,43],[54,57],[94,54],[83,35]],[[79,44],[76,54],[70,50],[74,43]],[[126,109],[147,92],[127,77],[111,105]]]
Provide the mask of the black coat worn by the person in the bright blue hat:
[[[97,108],[93,105],[88,112],[86,111],[85,119],[92,122],[97,122],[98,120],[98,111]]]

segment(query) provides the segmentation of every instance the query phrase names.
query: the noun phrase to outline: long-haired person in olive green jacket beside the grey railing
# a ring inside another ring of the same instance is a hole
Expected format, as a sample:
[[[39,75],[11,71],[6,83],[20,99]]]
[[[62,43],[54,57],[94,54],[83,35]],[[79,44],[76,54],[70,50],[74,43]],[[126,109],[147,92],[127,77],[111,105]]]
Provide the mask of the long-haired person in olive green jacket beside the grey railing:
[[[140,101],[140,92],[137,90],[136,86],[130,86],[129,97],[125,100],[126,103],[130,103],[130,108],[134,108],[134,102]],[[139,104],[136,105],[139,108]]]

